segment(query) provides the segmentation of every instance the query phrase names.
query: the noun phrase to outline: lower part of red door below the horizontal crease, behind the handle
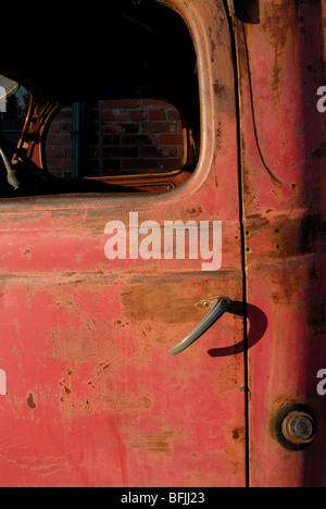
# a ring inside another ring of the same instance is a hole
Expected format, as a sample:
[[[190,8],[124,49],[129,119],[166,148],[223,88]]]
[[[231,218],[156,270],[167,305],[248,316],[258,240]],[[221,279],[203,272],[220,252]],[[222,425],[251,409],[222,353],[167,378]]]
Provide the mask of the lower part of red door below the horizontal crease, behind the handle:
[[[202,294],[189,283],[161,286],[170,299],[160,309],[159,299],[141,302],[143,284],[103,276],[5,282],[7,484],[205,486],[242,477],[243,353],[218,356],[242,320],[229,316],[183,358],[170,356],[205,312],[193,307]]]

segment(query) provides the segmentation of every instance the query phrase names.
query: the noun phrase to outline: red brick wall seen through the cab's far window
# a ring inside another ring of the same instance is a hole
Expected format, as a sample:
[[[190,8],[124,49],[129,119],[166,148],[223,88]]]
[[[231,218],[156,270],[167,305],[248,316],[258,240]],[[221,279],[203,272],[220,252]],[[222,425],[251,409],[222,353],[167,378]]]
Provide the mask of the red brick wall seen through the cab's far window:
[[[58,176],[72,172],[72,107],[52,122],[47,164]],[[184,135],[179,112],[164,101],[98,101],[88,107],[86,176],[165,173],[180,167]]]

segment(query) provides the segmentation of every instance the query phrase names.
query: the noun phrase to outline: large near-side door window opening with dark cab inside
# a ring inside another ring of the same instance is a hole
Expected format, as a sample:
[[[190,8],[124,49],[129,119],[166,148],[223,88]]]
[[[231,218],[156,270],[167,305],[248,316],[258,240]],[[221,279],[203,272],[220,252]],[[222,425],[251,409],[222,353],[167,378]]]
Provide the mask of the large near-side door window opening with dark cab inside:
[[[98,14],[57,20],[61,37],[41,65],[0,61],[30,91],[18,142],[1,133],[2,197],[167,191],[193,174],[200,107],[188,26],[153,0],[114,0]]]

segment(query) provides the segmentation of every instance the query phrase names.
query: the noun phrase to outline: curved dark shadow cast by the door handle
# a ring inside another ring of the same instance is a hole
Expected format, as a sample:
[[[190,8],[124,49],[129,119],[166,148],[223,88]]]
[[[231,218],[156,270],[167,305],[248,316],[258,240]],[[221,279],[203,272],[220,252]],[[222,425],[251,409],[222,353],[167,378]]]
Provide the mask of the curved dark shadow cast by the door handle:
[[[209,356],[211,357],[228,357],[241,353],[242,351],[244,351],[246,348],[252,348],[256,343],[259,343],[263,338],[267,330],[267,316],[256,306],[250,303],[247,303],[246,306],[243,305],[243,302],[233,301],[230,302],[227,312],[236,314],[238,316],[247,315],[250,322],[248,342],[242,340],[229,347],[212,348],[208,351]]]

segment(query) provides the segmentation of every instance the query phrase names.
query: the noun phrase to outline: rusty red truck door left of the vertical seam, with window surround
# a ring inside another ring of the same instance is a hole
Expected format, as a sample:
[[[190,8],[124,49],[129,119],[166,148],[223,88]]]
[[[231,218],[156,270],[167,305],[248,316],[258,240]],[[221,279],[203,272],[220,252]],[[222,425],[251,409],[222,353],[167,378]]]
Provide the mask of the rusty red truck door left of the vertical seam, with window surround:
[[[193,178],[154,197],[0,203],[3,486],[246,484],[230,34],[223,2],[171,3],[189,24],[199,57],[202,142]],[[127,226],[130,211],[139,223],[161,226],[222,221],[221,269],[202,271],[189,257],[109,261],[105,225]],[[213,297],[238,302],[238,312],[172,357]]]

